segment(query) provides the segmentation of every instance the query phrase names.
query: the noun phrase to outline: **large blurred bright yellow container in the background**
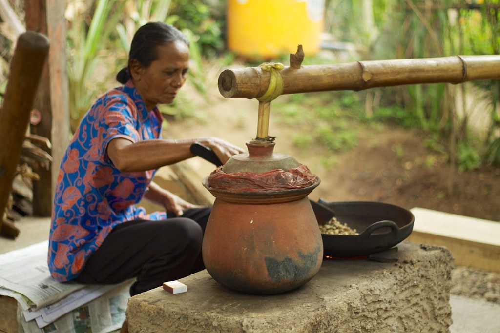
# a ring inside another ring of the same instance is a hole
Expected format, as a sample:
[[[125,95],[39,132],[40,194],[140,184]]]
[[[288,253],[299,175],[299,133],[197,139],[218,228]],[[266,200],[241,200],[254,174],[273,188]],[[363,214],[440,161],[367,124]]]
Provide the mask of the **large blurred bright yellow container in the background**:
[[[324,0],[228,0],[227,46],[249,57],[306,55],[320,48]]]

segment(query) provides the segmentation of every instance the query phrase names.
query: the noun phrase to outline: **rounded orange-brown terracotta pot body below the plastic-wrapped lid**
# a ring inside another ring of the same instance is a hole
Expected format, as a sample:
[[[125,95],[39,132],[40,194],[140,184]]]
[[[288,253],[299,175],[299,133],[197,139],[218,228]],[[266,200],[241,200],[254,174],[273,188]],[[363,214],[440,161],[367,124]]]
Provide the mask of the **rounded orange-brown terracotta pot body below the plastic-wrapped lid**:
[[[312,279],[323,258],[307,199],[315,186],[246,194],[207,187],[216,198],[202,245],[211,277],[256,295],[283,293]]]

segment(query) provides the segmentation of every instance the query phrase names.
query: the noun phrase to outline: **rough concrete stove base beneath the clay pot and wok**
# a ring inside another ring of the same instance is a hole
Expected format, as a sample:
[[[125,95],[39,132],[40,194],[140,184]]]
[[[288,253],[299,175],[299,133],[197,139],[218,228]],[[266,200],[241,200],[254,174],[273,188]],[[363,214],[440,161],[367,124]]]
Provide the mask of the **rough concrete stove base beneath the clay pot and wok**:
[[[451,253],[397,248],[397,262],[325,260],[311,281],[274,296],[233,292],[202,271],[179,280],[187,293],[132,297],[129,332],[449,332]]]

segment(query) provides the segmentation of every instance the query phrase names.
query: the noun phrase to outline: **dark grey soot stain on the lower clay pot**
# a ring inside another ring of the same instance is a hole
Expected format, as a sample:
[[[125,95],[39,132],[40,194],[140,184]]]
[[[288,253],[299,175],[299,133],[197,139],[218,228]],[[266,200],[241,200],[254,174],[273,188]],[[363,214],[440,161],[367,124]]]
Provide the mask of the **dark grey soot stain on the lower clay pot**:
[[[318,246],[313,252],[306,254],[298,252],[300,262],[297,262],[290,257],[286,257],[283,260],[265,257],[264,262],[267,274],[271,280],[278,282],[283,280],[301,280],[305,278],[314,267],[316,267],[317,255],[320,251],[321,247]]]

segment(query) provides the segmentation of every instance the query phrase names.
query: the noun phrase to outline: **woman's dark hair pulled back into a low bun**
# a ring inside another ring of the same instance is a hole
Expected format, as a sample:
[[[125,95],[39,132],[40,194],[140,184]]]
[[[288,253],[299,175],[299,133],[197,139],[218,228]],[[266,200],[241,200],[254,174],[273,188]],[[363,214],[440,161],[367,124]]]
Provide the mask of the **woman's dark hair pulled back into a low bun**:
[[[128,52],[128,65],[116,74],[116,81],[125,84],[131,78],[130,60],[136,59],[142,67],[147,68],[158,58],[158,46],[177,40],[189,45],[187,37],[170,24],[150,22],[142,25],[133,35]]]

